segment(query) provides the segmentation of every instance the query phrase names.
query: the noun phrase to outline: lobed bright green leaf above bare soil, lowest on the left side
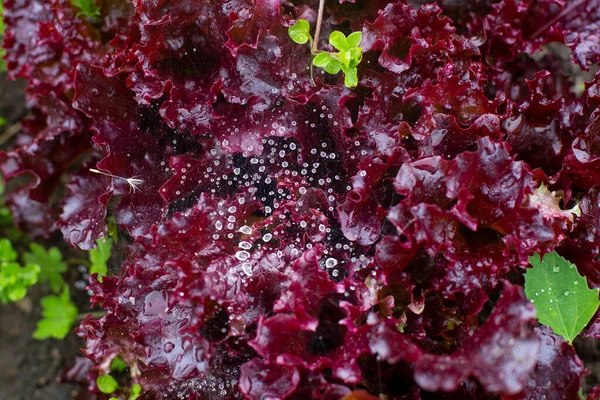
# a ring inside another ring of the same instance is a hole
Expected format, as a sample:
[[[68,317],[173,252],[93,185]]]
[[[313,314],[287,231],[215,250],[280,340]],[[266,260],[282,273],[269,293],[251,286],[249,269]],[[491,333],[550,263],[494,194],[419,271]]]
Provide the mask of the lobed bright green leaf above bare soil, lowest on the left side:
[[[35,339],[64,339],[77,319],[77,307],[71,302],[69,288],[60,296],[46,296],[41,300],[42,319],[33,333]]]

